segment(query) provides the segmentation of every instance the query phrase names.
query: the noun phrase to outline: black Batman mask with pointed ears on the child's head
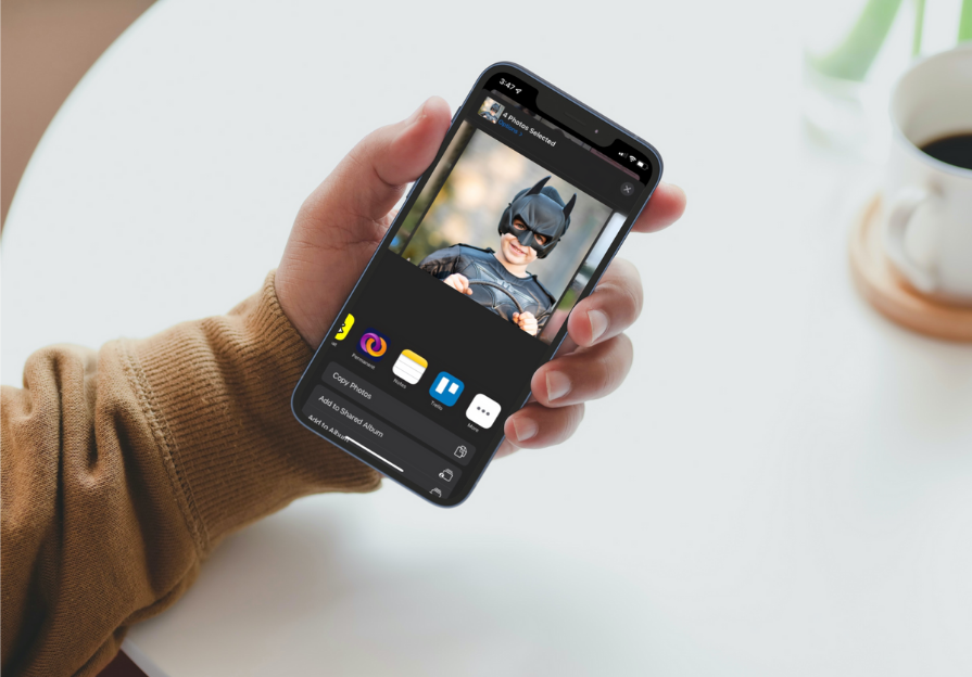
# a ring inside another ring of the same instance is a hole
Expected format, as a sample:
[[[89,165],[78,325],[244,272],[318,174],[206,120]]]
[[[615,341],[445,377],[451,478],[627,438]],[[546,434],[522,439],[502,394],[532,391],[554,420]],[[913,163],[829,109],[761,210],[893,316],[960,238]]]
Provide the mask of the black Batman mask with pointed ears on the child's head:
[[[546,258],[557,246],[570,226],[570,213],[577,202],[575,193],[565,205],[557,189],[546,184],[550,179],[540,179],[533,188],[518,192],[500,217],[500,234],[510,233],[522,246],[532,247],[538,258]],[[523,230],[514,227],[517,218],[526,226]],[[541,243],[537,235],[545,242]]]

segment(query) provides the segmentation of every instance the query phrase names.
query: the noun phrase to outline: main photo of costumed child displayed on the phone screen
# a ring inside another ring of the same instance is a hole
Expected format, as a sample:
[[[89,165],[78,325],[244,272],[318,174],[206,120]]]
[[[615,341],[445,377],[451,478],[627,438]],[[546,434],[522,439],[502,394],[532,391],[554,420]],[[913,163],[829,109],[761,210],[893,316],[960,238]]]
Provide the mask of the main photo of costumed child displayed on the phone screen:
[[[390,250],[550,343],[611,209],[464,123]]]

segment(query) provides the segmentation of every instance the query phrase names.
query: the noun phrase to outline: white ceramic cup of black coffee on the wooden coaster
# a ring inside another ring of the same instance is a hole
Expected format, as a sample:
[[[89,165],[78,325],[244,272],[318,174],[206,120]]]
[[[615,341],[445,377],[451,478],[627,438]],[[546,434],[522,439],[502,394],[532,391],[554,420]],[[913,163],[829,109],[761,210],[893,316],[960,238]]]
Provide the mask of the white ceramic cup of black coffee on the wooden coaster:
[[[914,64],[895,87],[884,199],[888,258],[919,292],[972,305],[972,169],[921,146],[972,133],[972,44]]]

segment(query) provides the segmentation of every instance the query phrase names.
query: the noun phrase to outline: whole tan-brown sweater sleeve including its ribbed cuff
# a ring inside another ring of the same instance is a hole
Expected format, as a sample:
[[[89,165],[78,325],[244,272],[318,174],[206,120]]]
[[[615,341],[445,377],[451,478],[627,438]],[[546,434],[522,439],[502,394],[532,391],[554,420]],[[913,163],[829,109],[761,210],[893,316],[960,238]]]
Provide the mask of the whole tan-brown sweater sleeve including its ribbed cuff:
[[[224,317],[30,356],[2,392],[2,673],[92,675],[220,538],[379,475],[301,426],[274,276]]]

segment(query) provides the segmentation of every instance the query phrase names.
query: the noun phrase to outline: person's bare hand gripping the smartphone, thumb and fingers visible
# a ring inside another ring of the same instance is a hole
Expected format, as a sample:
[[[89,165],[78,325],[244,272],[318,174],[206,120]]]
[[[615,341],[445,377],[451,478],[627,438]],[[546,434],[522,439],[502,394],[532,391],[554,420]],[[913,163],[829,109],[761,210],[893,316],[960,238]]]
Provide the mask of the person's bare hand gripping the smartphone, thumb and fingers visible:
[[[365,137],[304,201],[276,286],[283,312],[311,346],[324,340],[388,230],[405,186],[435,158],[450,117],[442,99],[429,99],[408,119]],[[661,183],[634,230],[661,230],[684,208],[681,189]],[[569,337],[558,356],[533,374],[533,401],[506,420],[500,456],[567,439],[583,417],[583,403],[620,385],[632,359],[631,341],[622,332],[641,304],[638,270],[616,259],[597,291],[570,315]]]

